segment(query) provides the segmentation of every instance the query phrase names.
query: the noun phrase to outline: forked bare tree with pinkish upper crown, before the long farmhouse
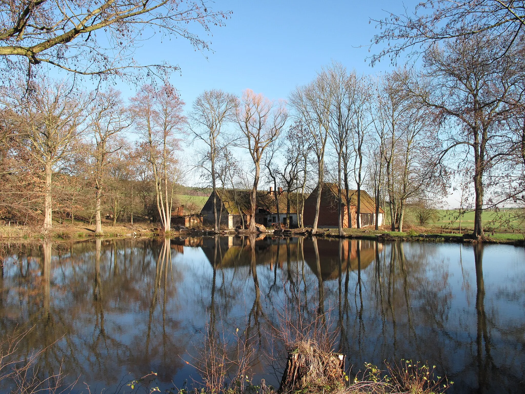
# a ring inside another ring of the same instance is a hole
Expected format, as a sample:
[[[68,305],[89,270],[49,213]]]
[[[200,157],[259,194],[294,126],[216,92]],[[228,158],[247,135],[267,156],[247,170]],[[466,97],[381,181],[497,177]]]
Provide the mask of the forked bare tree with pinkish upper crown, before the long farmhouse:
[[[285,102],[276,103],[249,89],[243,92],[237,107],[237,123],[243,134],[244,147],[248,149],[255,165],[254,184],[250,193],[249,230],[251,232],[255,232],[255,209],[262,155],[266,148],[277,140],[287,119]]]

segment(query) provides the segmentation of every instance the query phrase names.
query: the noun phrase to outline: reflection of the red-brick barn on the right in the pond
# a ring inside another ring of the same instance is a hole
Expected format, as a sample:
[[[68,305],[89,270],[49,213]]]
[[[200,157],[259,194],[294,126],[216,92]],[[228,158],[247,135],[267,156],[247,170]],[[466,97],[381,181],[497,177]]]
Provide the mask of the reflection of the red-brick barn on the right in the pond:
[[[339,268],[339,241],[317,240],[319,253],[319,265],[321,267],[321,278],[323,281],[337,279],[339,273],[344,273],[346,269],[356,271],[365,269],[370,265],[376,256],[376,242],[365,240],[342,240],[342,259],[341,268]],[[358,256],[358,246],[360,253]],[[377,243],[378,252],[383,250],[383,245]],[[314,274],[318,274],[316,250],[313,242],[304,243],[304,260]],[[359,264],[361,263],[361,264]],[[359,267],[361,265],[361,267]]]

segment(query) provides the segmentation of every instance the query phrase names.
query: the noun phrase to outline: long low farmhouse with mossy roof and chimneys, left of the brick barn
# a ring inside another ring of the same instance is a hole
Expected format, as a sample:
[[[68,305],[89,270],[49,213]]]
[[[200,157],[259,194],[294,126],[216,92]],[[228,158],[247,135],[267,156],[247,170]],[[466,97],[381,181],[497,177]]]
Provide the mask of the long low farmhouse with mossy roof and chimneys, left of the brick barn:
[[[201,215],[205,222],[213,223],[213,196],[212,193],[206,204],[204,204]],[[295,197],[295,196],[294,196]],[[227,229],[235,229],[245,225],[250,221],[250,192],[247,190],[220,190],[217,193],[217,215],[220,215],[220,225]],[[287,193],[279,191],[279,216],[275,204],[275,194],[270,188],[269,191],[257,191],[257,205],[255,210],[255,222],[264,226],[271,226],[274,223],[287,223]],[[221,213],[222,212],[222,213]],[[289,226],[297,225],[297,204],[290,201],[290,223]]]

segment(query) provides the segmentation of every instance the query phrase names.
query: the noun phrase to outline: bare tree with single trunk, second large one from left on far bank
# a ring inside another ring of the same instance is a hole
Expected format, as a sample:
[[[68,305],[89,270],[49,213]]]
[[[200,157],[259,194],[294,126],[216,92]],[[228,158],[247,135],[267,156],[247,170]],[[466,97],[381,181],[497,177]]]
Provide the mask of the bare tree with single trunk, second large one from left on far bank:
[[[113,142],[123,130],[131,126],[132,119],[130,112],[124,108],[120,91],[113,89],[99,92],[91,112],[91,131],[95,142],[91,154],[95,180],[95,233],[102,234],[100,207],[108,160],[112,153],[120,149]]]

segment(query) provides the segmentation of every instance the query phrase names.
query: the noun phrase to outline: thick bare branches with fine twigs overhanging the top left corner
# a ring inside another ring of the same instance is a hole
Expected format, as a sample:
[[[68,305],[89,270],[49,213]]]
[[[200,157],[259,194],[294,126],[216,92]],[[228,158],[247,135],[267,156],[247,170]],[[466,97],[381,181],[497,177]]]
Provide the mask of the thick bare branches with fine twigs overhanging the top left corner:
[[[22,0],[2,2],[0,56],[7,70],[47,63],[82,75],[123,76],[141,67],[133,50],[155,33],[181,36],[198,49],[208,43],[190,31],[191,23],[209,31],[230,12],[212,11],[206,2],[178,0]],[[13,60],[14,58],[14,60]],[[25,64],[25,66],[24,66]],[[175,67],[145,66],[150,73]]]

